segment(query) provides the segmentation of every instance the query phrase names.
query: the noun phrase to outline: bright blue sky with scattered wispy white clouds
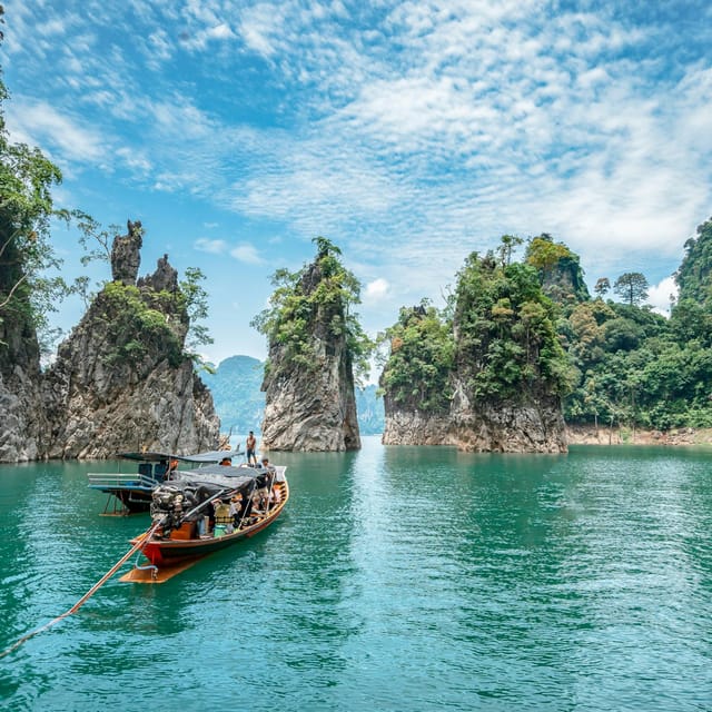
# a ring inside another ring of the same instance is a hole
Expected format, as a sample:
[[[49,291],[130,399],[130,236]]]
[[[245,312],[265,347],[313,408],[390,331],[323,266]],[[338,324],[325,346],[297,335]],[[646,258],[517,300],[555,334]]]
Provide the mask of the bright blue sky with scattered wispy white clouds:
[[[505,234],[551,234],[591,290],[640,271],[665,309],[712,215],[708,1],[3,4],[11,139],[60,167],[56,206],[141,221],[140,275],[202,270],[215,364],[266,357],[249,323],[317,236],[375,336]],[[76,230],[52,243],[85,270]]]

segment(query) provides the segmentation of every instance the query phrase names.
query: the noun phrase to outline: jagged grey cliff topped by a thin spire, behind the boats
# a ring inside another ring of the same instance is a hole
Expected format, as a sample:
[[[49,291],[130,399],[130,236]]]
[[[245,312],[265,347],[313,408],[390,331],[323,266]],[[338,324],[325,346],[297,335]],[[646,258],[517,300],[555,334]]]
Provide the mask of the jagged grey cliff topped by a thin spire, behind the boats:
[[[115,244],[118,279],[97,296],[47,373],[44,456],[103,458],[141,448],[185,454],[217,446],[212,397],[182,355],[188,318],[176,299],[177,273],[164,257],[137,286],[136,225],[117,238],[119,248]]]

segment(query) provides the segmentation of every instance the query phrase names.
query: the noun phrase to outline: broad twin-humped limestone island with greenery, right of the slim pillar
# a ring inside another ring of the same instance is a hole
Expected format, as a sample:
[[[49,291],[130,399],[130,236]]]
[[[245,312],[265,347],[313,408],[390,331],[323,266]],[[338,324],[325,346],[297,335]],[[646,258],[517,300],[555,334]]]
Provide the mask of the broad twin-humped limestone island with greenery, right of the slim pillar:
[[[534,269],[473,254],[459,274],[452,332],[444,326],[416,307],[390,329],[383,443],[566,452],[565,356]]]

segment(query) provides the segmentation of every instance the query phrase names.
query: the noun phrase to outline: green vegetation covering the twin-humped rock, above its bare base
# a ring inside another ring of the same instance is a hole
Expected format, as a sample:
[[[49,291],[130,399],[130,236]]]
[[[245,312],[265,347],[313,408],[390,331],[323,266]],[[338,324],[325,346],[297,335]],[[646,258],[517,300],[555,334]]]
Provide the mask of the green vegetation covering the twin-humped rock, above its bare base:
[[[554,304],[533,265],[512,263],[514,238],[502,241],[500,259],[473,253],[465,260],[448,309],[452,318],[425,304],[402,309],[382,337],[390,350],[380,386],[394,404],[447,413],[455,373],[475,400],[561,396],[571,389]],[[562,254],[556,248],[556,259]]]

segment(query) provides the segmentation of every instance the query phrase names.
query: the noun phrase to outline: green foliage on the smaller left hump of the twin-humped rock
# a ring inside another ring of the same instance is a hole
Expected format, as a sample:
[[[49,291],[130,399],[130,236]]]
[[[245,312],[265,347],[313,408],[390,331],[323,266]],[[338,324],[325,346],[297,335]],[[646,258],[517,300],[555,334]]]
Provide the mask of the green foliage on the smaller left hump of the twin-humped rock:
[[[389,344],[380,377],[385,394],[426,413],[447,412],[455,356],[452,324],[424,299],[419,307],[402,308],[398,322],[378,340]]]

